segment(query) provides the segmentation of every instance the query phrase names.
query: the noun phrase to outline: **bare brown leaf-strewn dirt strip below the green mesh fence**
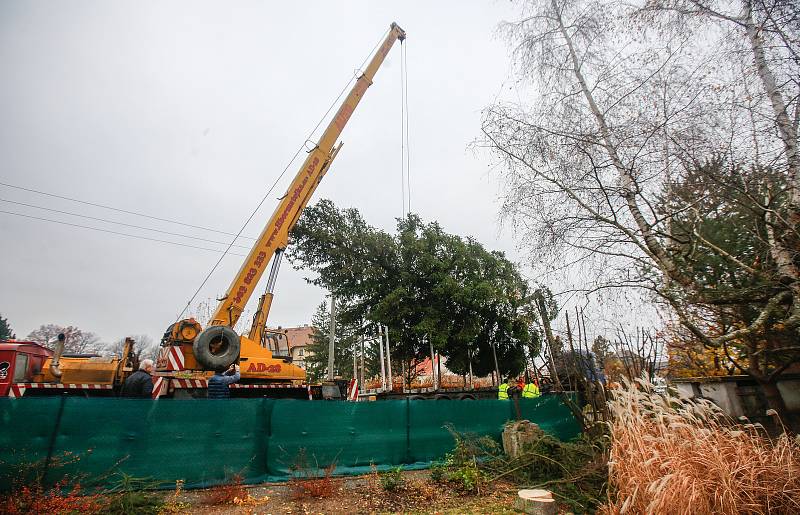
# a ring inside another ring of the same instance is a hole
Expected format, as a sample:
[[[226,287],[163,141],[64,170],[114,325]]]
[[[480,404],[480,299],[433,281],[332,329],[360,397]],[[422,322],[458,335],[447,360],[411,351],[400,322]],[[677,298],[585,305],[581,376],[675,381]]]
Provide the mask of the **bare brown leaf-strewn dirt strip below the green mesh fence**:
[[[467,495],[430,481],[428,471],[403,473],[401,488],[383,490],[375,475],[331,478],[327,497],[298,494],[288,483],[265,483],[243,489],[244,499],[213,503],[211,490],[182,492],[175,501],[180,513],[190,514],[352,514],[461,513],[510,514],[516,489],[507,484],[488,486],[480,495]]]

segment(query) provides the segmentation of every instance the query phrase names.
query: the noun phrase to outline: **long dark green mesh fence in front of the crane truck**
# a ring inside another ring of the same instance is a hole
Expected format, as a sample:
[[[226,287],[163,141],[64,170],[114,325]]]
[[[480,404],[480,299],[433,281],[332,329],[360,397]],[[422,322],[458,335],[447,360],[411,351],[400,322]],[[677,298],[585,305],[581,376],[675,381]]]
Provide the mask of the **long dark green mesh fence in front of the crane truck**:
[[[555,396],[523,399],[520,414],[561,439],[578,435]],[[165,485],[285,480],[298,466],[336,463],[336,474],[423,468],[453,448],[447,426],[499,440],[513,401],[159,401],[44,397],[0,399],[0,490],[23,473],[84,477],[119,472]]]

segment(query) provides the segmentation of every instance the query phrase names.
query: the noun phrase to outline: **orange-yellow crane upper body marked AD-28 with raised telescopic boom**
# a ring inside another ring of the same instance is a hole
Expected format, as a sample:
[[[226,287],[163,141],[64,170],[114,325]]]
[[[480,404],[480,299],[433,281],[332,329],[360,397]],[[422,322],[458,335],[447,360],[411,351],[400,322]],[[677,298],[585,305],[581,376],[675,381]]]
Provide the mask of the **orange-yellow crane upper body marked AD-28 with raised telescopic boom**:
[[[266,328],[281,259],[289,242],[289,232],[342,148],[342,143],[337,143],[342,130],[372,84],[375,73],[395,41],[402,42],[405,37],[405,31],[392,23],[388,35],[366,69],[357,78],[319,141],[309,151],[225,295],[218,299],[219,304],[208,326],[203,329],[193,318],[183,319],[169,326],[162,339],[162,350],[157,363],[159,372],[221,370],[238,361],[243,379],[305,379],[302,368],[291,364],[288,357],[280,355],[280,342],[285,341],[284,335]],[[240,336],[233,327],[270,263],[266,291],[259,299],[250,331],[246,336]]]

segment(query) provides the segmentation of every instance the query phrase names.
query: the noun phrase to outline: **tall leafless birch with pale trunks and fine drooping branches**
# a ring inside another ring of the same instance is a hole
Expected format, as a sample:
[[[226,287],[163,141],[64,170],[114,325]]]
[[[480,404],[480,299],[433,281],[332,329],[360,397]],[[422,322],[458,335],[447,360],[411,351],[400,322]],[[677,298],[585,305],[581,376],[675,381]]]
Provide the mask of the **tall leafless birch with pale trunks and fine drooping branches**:
[[[800,348],[776,352],[769,335],[796,342],[800,328],[796,8],[720,9],[693,0],[526,3],[522,19],[503,29],[531,101],[488,107],[482,143],[504,165],[504,214],[537,263],[571,266],[584,293],[644,289],[707,346],[755,342],[754,359],[736,366],[785,412],[774,380]],[[713,219],[702,211],[705,196],[741,187],[729,177],[699,197],[675,195],[715,156],[783,178],[771,196],[755,188],[737,197],[763,221],[768,256],[760,263],[731,242],[674,228],[687,213]],[[689,266],[709,255],[768,288],[721,297]],[[722,331],[700,316],[741,306],[752,316]]]

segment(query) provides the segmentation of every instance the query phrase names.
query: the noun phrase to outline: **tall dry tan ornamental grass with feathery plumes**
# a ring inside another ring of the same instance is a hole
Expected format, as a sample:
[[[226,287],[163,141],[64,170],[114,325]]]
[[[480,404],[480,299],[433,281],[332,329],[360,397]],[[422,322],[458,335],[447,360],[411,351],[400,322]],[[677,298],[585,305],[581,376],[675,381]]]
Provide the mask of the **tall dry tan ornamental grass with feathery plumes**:
[[[639,381],[609,402],[605,513],[800,513],[800,445]]]

